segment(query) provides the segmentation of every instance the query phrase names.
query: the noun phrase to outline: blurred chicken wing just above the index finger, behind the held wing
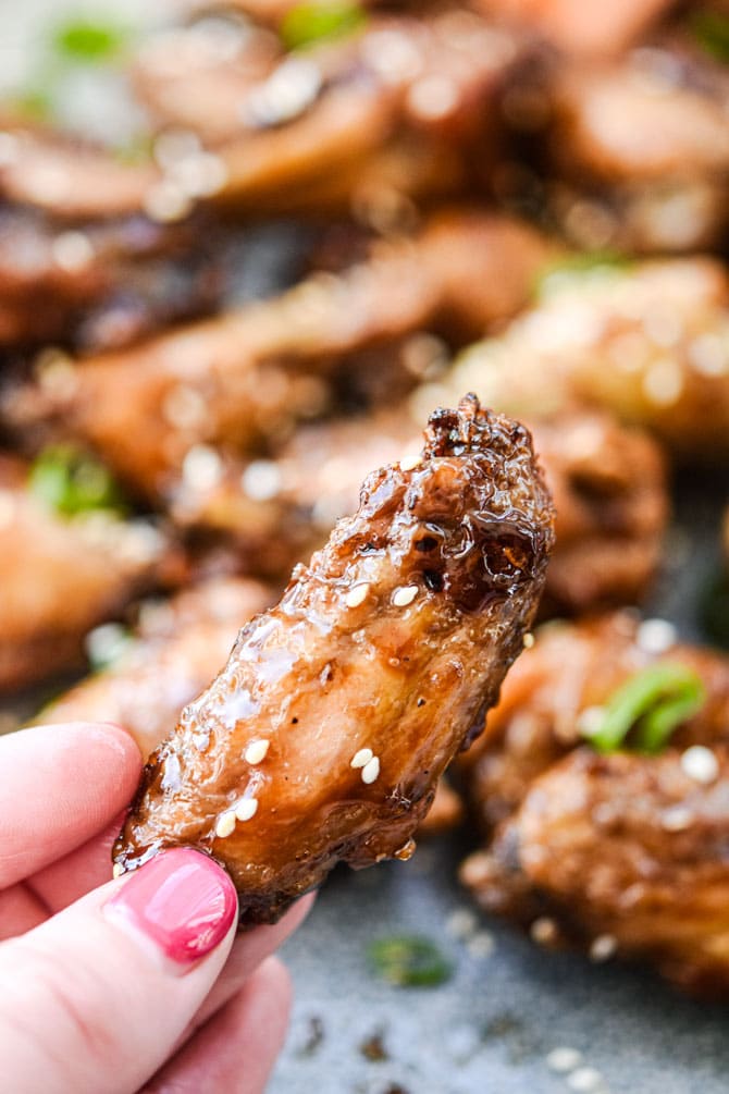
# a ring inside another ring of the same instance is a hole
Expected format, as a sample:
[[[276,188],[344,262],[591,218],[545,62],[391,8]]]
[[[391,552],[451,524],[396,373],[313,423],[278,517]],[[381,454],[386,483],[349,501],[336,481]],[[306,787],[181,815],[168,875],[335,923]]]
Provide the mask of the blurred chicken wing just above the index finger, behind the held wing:
[[[211,579],[166,603],[145,607],[129,649],[45,707],[34,720],[115,722],[142,756],[161,744],[180,708],[225,664],[243,619],[262,612],[271,593],[257,581]]]

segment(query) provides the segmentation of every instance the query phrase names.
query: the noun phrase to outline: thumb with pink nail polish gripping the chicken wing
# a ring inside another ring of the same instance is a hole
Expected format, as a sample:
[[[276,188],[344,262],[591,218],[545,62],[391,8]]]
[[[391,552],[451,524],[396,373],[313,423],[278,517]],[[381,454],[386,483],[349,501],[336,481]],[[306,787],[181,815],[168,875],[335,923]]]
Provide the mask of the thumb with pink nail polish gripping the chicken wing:
[[[227,874],[178,849],[0,944],[3,1089],[138,1090],[217,978],[236,918]]]

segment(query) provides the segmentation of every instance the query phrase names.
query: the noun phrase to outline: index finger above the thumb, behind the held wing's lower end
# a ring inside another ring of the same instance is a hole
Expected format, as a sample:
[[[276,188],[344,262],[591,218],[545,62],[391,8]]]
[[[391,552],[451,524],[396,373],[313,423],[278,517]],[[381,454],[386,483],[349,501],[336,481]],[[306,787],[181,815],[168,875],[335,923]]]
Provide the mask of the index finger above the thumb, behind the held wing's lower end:
[[[0,888],[105,828],[129,804],[141,766],[117,725],[73,722],[0,737]]]

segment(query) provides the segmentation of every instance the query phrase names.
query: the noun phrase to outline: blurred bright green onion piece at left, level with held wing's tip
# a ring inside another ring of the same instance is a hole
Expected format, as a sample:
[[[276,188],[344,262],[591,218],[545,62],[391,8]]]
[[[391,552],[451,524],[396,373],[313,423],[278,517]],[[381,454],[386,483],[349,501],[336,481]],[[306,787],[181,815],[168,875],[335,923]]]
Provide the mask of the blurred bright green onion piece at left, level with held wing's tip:
[[[28,489],[64,516],[125,509],[108,469],[70,444],[54,445],[40,453],[31,468]]]

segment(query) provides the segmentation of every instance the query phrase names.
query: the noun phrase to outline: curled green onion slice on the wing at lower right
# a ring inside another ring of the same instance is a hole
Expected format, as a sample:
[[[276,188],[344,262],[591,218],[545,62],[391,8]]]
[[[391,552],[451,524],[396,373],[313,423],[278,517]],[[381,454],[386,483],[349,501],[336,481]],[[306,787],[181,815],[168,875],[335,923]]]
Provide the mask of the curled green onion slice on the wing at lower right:
[[[705,701],[706,690],[693,670],[679,664],[651,665],[614,693],[601,722],[586,736],[599,752],[611,753],[624,747],[633,732],[635,748],[652,755]]]

